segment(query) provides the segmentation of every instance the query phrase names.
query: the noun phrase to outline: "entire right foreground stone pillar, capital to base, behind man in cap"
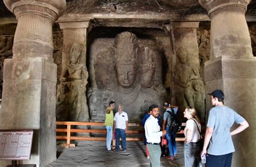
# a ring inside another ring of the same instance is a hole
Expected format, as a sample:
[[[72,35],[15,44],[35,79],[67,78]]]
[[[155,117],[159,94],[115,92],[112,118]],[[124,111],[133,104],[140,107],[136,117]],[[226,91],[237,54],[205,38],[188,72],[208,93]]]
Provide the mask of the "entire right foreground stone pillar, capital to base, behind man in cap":
[[[256,60],[245,12],[250,0],[199,0],[211,18],[211,57],[205,64],[206,91],[222,89],[225,105],[245,117],[250,127],[233,136],[232,166],[256,166]],[[211,108],[207,99],[207,111]]]

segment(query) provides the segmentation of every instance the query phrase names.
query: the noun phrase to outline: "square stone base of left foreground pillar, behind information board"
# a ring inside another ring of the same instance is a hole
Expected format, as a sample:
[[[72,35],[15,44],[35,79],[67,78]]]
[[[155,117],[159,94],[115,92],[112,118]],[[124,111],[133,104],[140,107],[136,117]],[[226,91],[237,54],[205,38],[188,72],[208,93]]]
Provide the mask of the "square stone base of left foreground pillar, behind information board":
[[[46,166],[56,159],[56,73],[57,66],[45,59],[4,61],[0,129],[34,131],[31,159],[18,164]]]

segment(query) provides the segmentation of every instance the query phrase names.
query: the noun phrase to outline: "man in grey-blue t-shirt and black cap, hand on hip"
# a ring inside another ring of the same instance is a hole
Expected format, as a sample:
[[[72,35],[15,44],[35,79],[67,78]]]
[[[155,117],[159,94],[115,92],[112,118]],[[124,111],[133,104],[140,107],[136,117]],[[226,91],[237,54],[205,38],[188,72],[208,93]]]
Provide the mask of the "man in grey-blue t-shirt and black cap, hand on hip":
[[[231,166],[232,154],[234,152],[231,136],[245,130],[249,124],[233,109],[224,106],[224,93],[221,90],[215,90],[208,95],[211,95],[211,102],[214,107],[209,113],[201,156],[206,154],[208,147],[206,156],[207,167]],[[233,131],[230,131],[234,122],[240,125]]]

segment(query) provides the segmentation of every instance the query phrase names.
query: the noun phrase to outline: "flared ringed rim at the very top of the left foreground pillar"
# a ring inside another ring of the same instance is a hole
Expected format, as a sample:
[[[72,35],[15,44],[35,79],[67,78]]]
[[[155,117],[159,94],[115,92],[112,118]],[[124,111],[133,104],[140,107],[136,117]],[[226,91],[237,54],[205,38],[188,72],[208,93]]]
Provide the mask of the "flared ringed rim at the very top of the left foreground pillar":
[[[55,22],[66,10],[65,0],[4,0],[6,7],[19,19],[22,15],[40,15]]]

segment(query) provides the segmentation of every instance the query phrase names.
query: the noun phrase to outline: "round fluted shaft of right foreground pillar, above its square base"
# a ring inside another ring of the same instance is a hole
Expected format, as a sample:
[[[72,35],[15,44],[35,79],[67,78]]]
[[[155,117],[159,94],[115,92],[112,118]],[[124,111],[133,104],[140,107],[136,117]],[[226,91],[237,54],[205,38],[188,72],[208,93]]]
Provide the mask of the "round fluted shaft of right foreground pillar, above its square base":
[[[207,6],[211,18],[211,55],[238,59],[252,56],[250,33],[245,19],[246,6],[246,2],[238,3],[235,0],[216,1]],[[244,54],[235,54],[234,50]]]

